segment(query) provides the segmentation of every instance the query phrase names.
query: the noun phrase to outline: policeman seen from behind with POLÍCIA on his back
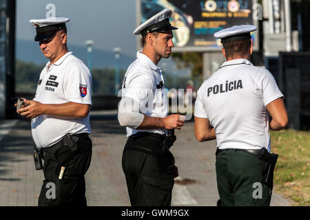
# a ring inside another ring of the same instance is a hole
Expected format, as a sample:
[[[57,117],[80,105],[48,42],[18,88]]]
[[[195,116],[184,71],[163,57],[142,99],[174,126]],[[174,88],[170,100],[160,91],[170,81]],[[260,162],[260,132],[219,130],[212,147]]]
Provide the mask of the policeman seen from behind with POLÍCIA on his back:
[[[217,142],[222,206],[269,206],[278,157],[270,153],[269,129],[284,129],[288,122],[273,76],[250,62],[250,32],[255,30],[254,25],[238,25],[214,34],[223,43],[226,62],[205,80],[195,103],[197,140]]]

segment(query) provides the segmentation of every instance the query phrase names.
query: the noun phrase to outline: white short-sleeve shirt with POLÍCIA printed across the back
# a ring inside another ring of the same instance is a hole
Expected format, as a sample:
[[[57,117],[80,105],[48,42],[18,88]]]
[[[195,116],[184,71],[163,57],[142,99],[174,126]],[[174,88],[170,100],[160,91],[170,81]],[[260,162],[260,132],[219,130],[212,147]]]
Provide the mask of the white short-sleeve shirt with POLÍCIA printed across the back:
[[[220,149],[271,151],[267,104],[282,97],[267,69],[227,61],[198,89],[194,115],[208,118]]]

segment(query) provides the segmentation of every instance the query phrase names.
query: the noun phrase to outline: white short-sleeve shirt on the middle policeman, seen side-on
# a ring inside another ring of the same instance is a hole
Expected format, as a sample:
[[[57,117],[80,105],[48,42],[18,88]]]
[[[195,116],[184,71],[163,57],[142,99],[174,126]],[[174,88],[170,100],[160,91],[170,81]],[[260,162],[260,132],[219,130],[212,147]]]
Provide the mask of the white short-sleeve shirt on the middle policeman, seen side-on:
[[[136,53],[136,61],[128,67],[122,86],[122,96],[139,103],[139,111],[150,117],[165,118],[168,113],[167,92],[161,68],[142,52]],[[166,129],[136,130],[126,127],[127,137],[137,132],[167,133]]]

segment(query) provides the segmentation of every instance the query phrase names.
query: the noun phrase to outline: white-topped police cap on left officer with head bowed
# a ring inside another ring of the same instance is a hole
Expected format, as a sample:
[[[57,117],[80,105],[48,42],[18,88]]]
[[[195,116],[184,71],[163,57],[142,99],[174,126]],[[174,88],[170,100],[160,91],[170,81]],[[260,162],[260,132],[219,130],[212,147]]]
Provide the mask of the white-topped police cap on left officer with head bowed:
[[[45,41],[65,27],[70,19],[65,17],[50,17],[46,19],[31,19],[29,22],[36,28],[37,35],[34,41]]]

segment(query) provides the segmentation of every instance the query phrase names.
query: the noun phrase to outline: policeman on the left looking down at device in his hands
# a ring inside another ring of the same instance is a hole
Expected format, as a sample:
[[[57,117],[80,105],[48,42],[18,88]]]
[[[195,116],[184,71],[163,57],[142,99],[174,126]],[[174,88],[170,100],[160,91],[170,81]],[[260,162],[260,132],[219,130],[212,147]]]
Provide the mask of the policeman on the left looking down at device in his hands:
[[[87,205],[84,175],[92,157],[88,137],[92,76],[68,52],[68,21],[54,17],[30,20],[37,30],[34,41],[50,60],[41,72],[34,100],[24,99],[23,108],[17,111],[32,119],[34,144],[44,156],[39,206]]]

